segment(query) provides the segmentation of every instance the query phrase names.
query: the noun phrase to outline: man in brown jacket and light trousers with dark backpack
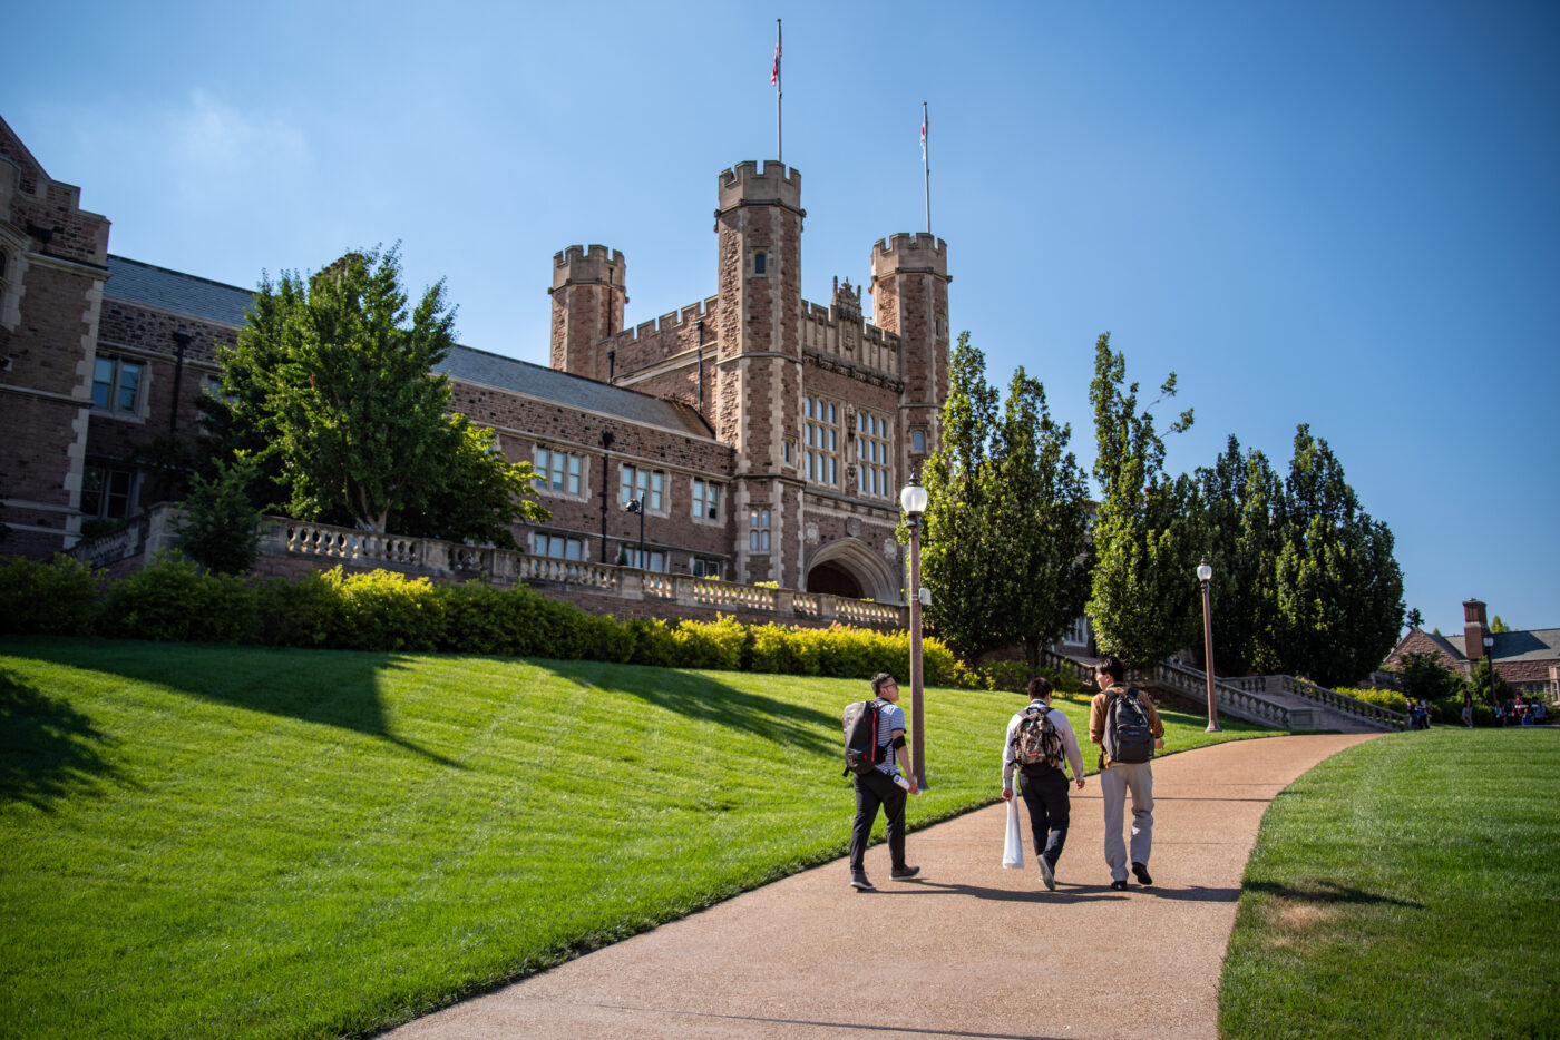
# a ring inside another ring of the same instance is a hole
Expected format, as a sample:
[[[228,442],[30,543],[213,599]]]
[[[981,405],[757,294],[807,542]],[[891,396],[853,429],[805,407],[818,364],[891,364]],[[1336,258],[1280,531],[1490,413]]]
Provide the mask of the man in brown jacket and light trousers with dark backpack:
[[[1159,713],[1137,688],[1125,688],[1126,666],[1103,658],[1095,667],[1100,692],[1089,705],[1089,739],[1100,750],[1100,798],[1104,801],[1104,862],[1111,887],[1126,890],[1126,845],[1122,819],[1126,792],[1133,794],[1133,873],[1139,884],[1153,884],[1148,854],[1154,842],[1154,752],[1164,748],[1165,727]]]

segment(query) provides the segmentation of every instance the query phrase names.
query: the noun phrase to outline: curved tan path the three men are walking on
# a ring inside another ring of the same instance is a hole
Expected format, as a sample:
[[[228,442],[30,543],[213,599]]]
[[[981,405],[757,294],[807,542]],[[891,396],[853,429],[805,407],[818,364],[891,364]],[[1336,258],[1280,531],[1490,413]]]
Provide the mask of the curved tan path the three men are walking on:
[[[1073,791],[1056,892],[1028,840],[1025,870],[1002,868],[1006,809],[987,806],[909,836],[914,881],[888,879],[880,844],[867,851],[877,892],[850,889],[836,861],[385,1037],[1217,1037],[1220,965],[1262,812],[1368,739],[1236,741],[1156,761],[1150,889],[1111,890],[1090,776]]]

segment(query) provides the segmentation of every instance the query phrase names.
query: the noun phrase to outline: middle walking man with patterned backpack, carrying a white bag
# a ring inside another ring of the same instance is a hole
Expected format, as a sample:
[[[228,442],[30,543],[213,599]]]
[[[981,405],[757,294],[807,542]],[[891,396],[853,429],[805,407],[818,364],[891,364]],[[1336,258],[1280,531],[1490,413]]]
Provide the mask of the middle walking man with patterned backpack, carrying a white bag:
[[[1073,783],[1083,791],[1083,755],[1067,716],[1051,708],[1051,684],[1045,678],[1030,680],[1030,705],[1008,722],[1008,738],[1002,745],[1002,798],[1012,798],[1012,773],[1023,775],[1023,805],[1030,809],[1030,834],[1041,881],[1056,889],[1056,861],[1067,844],[1069,801],[1067,773],[1062,758],[1073,770]]]

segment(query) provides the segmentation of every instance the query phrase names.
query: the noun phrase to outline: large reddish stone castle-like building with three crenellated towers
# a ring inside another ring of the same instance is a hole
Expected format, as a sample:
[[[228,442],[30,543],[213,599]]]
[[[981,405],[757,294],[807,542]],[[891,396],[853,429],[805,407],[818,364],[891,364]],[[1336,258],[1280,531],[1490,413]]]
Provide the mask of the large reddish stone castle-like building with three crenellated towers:
[[[624,327],[624,256],[568,246],[551,365],[456,348],[452,407],[535,463],[552,519],[516,529],[532,554],[900,602],[899,490],[948,385],[945,243],[872,246],[867,323],[849,281],[802,298],[799,172],[736,164],[716,200],[710,296]],[[159,501],[133,455],[195,432],[253,298],[108,243],[0,120],[0,552],[69,549]]]

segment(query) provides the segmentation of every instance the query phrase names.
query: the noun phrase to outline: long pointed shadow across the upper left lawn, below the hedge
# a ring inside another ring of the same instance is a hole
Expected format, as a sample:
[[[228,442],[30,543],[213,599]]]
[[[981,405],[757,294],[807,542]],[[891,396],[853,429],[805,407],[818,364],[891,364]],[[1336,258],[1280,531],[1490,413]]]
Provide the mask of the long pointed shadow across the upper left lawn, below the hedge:
[[[42,660],[156,683],[179,694],[248,711],[351,730],[402,747],[452,769],[460,762],[390,731],[379,683],[399,670],[393,653],[334,650],[310,653],[267,647],[69,641],[33,653]],[[178,663],[178,669],[170,664]]]

